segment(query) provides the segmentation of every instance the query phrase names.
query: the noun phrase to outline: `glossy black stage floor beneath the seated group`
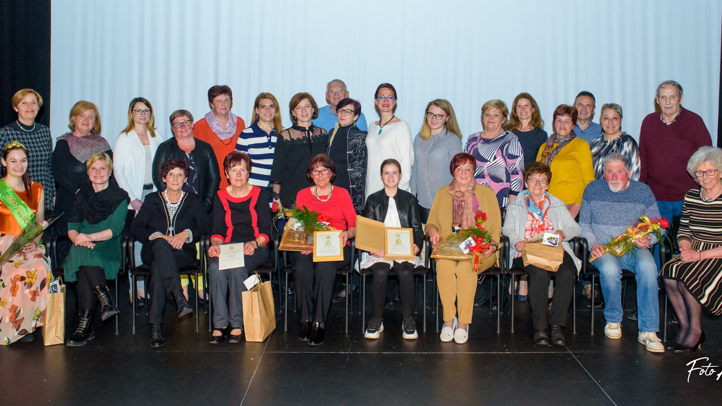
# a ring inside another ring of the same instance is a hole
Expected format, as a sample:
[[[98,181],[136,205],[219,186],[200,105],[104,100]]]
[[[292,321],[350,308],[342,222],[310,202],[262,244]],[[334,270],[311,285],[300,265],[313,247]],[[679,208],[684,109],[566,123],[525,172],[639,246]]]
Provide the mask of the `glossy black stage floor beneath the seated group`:
[[[630,291],[627,308],[634,308],[634,296]],[[72,307],[70,295],[69,303]],[[168,344],[156,350],[148,345],[144,314],[138,316],[136,335],[131,334],[125,300],[119,335],[114,323],[96,321],[96,338],[83,347],[43,347],[40,334],[34,342],[2,347],[0,405],[721,404],[722,321],[703,316],[708,339],[701,352],[656,354],[637,342],[637,324],[626,316],[622,338],[610,340],[604,336],[604,316],[596,312],[591,336],[587,303],[578,296],[577,334],[570,312],[565,347],[534,345],[529,306],[519,301],[514,333],[508,308],[500,334],[496,312],[476,308],[465,345],[440,342],[430,311],[427,332],[421,332],[420,306],[419,339],[404,340],[398,303],[386,311],[381,338],[366,340],[356,301],[346,334],[344,303],[334,303],[326,340],[318,347],[298,340],[292,305],[287,332],[279,314],[278,327],[265,342],[220,345],[207,342],[202,306],[196,333],[195,319],[176,319],[169,305]],[[368,315],[370,300],[367,308]],[[69,313],[67,336],[77,325],[77,314]],[[676,331],[677,325],[669,324],[668,337]],[[687,381],[687,363],[698,358],[703,359],[697,367],[711,363],[716,372],[700,376],[695,371]]]

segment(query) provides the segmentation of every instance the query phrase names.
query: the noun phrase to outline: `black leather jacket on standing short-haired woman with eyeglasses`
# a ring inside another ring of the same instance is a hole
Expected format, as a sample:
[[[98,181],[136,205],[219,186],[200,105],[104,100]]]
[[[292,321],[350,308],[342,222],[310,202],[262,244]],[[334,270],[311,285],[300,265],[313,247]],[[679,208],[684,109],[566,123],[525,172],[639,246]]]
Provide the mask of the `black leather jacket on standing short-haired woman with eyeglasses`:
[[[178,147],[178,141],[175,137],[161,142],[153,157],[153,183],[158,191],[165,190],[165,183],[160,176],[160,165],[170,158],[178,158],[188,162],[186,152]],[[221,183],[221,176],[218,172],[218,160],[213,152],[211,144],[196,138],[196,147],[193,148],[193,159],[196,161],[198,168],[198,188],[199,197],[206,213],[211,212],[213,207],[213,198],[218,191]]]

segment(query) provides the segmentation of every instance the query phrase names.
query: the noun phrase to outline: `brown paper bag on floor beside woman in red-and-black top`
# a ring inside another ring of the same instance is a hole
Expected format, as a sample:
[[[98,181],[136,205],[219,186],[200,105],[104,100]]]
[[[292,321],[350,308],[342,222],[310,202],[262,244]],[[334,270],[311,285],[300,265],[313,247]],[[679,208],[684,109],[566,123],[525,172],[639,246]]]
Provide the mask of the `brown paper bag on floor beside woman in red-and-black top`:
[[[243,298],[243,329],[246,341],[261,342],[276,328],[276,308],[271,282],[256,283],[241,293]]]

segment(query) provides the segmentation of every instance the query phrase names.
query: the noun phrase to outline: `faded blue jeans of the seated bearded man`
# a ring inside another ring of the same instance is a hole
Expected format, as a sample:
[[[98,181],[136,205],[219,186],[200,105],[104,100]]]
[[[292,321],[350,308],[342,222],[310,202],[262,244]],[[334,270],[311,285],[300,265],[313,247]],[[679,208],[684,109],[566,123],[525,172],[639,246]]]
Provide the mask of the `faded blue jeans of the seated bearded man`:
[[[634,257],[636,251],[636,258]],[[659,271],[648,249],[634,248],[622,258],[606,253],[594,264],[599,269],[599,283],[604,295],[604,319],[608,323],[622,322],[622,268],[635,273],[637,279],[637,308],[640,331],[659,331],[659,299],[657,277]]]

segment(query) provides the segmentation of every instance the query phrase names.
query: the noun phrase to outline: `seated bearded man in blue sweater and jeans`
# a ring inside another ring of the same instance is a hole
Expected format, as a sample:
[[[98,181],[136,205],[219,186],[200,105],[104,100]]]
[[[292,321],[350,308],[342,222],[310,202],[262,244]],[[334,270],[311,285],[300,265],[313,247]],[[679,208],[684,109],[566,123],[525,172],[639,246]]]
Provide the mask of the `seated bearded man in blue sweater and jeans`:
[[[636,241],[636,248],[621,258],[613,254],[601,254],[611,238],[626,231],[627,225],[639,221],[639,217],[659,217],[659,209],[649,186],[630,179],[630,160],[619,152],[607,155],[604,163],[604,179],[590,182],[582,195],[579,212],[581,236],[591,247],[591,255],[598,258],[594,264],[599,269],[599,282],[604,295],[604,319],[606,337],[622,337],[622,269],[635,273],[637,280],[638,341],[653,353],[664,352],[664,345],[657,337],[659,331],[659,302],[657,277],[659,272],[649,246],[657,242],[648,235]]]

